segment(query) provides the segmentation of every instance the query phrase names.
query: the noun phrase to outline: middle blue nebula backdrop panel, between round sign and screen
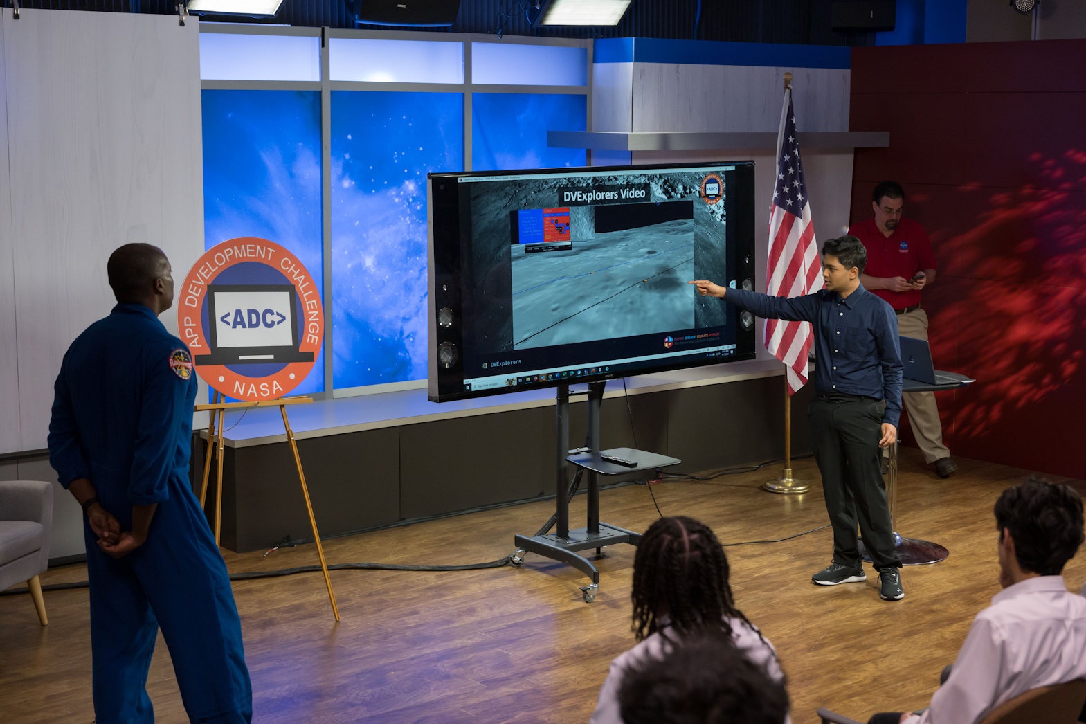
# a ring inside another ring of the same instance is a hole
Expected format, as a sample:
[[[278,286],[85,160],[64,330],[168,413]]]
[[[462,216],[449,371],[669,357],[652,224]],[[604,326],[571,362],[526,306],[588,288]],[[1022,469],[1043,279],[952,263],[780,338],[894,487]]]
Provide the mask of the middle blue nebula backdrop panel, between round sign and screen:
[[[333,386],[426,379],[426,175],[464,169],[464,94],[331,100]]]

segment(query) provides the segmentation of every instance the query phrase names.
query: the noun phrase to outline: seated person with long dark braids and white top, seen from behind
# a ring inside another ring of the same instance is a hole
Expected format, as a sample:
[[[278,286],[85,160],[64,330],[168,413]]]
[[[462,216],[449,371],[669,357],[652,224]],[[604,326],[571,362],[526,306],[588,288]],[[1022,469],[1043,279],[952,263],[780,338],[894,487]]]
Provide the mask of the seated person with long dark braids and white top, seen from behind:
[[[668,645],[720,632],[754,664],[783,685],[776,650],[735,608],[728,557],[709,526],[685,517],[648,526],[633,559],[633,635],[636,646],[611,661],[591,724],[620,724],[619,689],[626,672],[660,659]],[[785,719],[785,721],[787,721]]]

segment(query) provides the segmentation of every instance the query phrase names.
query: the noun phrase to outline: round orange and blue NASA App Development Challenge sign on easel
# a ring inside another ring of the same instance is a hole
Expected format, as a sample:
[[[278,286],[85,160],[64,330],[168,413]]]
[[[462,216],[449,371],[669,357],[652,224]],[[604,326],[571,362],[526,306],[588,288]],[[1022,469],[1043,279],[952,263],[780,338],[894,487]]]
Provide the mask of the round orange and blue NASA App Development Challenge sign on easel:
[[[207,250],[177,292],[177,328],[197,373],[236,399],[275,399],[313,369],[320,293],[292,253],[241,237]]]

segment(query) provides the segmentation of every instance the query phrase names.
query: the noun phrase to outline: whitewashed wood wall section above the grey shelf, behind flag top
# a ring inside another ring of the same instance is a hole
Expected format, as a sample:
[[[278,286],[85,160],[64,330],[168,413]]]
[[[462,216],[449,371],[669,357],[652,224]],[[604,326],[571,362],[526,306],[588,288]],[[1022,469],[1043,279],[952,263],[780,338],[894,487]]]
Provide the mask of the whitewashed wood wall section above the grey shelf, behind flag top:
[[[848,69],[674,63],[634,63],[632,130],[776,130],[785,72],[799,130],[848,130]]]

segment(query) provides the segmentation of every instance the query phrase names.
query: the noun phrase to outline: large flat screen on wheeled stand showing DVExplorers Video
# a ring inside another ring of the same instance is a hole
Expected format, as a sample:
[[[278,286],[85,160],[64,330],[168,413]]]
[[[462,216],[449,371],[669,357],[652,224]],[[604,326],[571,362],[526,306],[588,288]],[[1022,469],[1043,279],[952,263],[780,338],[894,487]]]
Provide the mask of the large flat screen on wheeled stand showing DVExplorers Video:
[[[430,174],[434,402],[754,357],[754,163]]]

